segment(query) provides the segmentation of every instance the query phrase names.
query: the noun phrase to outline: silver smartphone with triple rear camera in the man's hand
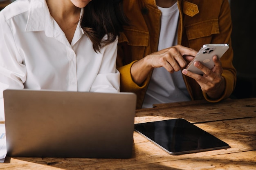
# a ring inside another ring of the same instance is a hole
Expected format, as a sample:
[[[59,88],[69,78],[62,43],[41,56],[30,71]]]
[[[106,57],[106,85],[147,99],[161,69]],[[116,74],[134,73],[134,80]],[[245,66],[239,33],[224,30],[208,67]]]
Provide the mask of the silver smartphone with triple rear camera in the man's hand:
[[[212,60],[213,55],[217,55],[219,58],[229,49],[229,44],[204,44],[198,51],[195,58],[188,64],[186,69],[196,74],[204,74],[199,68],[194,66],[195,61],[199,61],[208,68],[213,68],[214,62]]]

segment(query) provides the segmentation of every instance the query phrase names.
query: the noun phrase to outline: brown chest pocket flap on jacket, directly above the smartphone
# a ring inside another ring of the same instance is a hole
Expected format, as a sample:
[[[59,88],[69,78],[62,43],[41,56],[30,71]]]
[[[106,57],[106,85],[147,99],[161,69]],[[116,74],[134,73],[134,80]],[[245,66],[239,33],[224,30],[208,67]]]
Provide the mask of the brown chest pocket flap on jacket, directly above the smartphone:
[[[211,19],[202,22],[197,22],[188,26],[186,28],[186,35],[188,40],[194,40],[197,38],[203,38],[211,36],[213,34],[220,33],[218,19]]]

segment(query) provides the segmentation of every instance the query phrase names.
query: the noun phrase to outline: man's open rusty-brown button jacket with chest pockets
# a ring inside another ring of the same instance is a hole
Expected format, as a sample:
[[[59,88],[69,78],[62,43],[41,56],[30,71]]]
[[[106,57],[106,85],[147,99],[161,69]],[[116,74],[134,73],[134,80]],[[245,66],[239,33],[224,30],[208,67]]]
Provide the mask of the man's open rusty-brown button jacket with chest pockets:
[[[198,51],[203,44],[228,43],[228,51],[221,57],[225,91],[219,99],[203,93],[194,79],[183,75],[191,100],[206,99],[219,102],[231,95],[236,84],[236,69],[232,65],[231,13],[228,0],[177,0],[180,10],[178,44]],[[137,108],[141,108],[151,74],[141,85],[132,81],[131,66],[137,60],[157,51],[161,11],[155,0],[124,0],[124,11],[131,21],[119,37],[117,69],[120,72],[121,92],[137,94]]]

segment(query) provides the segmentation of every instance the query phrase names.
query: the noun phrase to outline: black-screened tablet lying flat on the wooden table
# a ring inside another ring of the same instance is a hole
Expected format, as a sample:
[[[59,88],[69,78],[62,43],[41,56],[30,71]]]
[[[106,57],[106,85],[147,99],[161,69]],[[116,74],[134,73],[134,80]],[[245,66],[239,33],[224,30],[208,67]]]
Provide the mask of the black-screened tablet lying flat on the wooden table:
[[[230,148],[224,141],[181,118],[135,124],[135,131],[171,155]]]

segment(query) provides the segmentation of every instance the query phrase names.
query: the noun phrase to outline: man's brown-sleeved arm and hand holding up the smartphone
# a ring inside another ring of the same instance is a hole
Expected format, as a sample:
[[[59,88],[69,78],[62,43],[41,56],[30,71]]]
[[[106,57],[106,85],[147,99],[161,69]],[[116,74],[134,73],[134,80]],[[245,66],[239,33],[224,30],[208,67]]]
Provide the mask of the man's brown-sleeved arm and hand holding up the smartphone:
[[[182,71],[183,74],[198,82],[205,99],[209,102],[218,102],[229,97],[236,84],[236,70],[232,65],[233,49],[230,38],[232,23],[228,1],[223,1],[223,4],[221,4],[218,24],[219,33],[213,35],[210,44],[228,43],[230,46],[228,51],[220,60],[216,56],[213,57],[215,66],[212,70],[205,67],[202,63],[195,62],[194,65],[204,72],[202,76],[186,70]]]

